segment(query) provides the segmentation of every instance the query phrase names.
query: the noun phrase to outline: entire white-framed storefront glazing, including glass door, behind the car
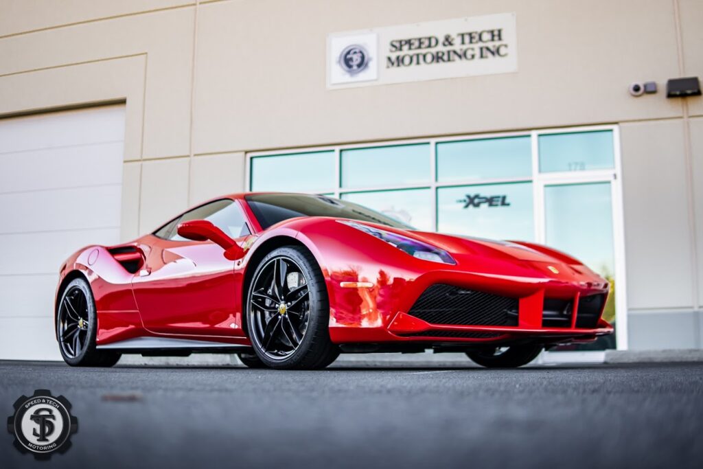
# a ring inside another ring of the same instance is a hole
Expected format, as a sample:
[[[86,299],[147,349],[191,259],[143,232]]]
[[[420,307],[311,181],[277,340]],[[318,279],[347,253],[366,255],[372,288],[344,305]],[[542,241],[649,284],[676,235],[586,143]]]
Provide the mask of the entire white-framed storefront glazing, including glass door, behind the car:
[[[250,189],[340,197],[421,231],[553,246],[611,282],[604,318],[613,321],[616,303],[626,311],[615,292],[616,141],[617,127],[600,126],[254,154]],[[570,347],[614,346],[607,337]]]

